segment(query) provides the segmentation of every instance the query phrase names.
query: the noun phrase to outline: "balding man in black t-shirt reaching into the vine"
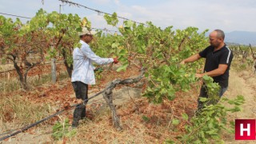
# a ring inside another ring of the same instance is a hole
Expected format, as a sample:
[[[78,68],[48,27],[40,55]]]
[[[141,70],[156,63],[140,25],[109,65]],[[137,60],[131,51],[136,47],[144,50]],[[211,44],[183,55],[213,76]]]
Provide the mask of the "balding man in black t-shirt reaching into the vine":
[[[196,74],[196,77],[202,78],[202,76],[208,75],[214,78],[214,82],[218,82],[218,85],[221,86],[219,97],[222,97],[222,94],[227,90],[230,64],[233,58],[233,53],[224,43],[224,38],[225,34],[222,30],[214,30],[209,35],[210,46],[199,54],[194,54],[181,62],[181,64],[185,64],[206,58],[204,73]],[[199,97],[208,98],[206,86],[202,86]],[[202,102],[198,98],[198,110],[201,109]]]

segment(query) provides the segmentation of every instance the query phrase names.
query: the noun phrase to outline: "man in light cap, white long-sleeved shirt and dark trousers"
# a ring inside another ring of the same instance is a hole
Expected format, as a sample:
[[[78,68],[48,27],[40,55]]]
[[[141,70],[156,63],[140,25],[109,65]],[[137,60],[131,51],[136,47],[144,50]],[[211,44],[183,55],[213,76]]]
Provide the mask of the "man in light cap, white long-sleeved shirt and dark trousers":
[[[95,84],[94,66],[92,62],[95,62],[98,65],[106,65],[112,62],[118,63],[117,58],[100,58],[98,55],[94,54],[88,45],[92,41],[94,34],[96,34],[95,31],[87,30],[83,27],[82,32],[78,33],[82,46],[76,47],[73,51],[74,62],[71,82],[76,98],[82,100],[88,98],[88,85]],[[76,106],[72,127],[77,127],[79,120],[85,117],[86,106]]]

